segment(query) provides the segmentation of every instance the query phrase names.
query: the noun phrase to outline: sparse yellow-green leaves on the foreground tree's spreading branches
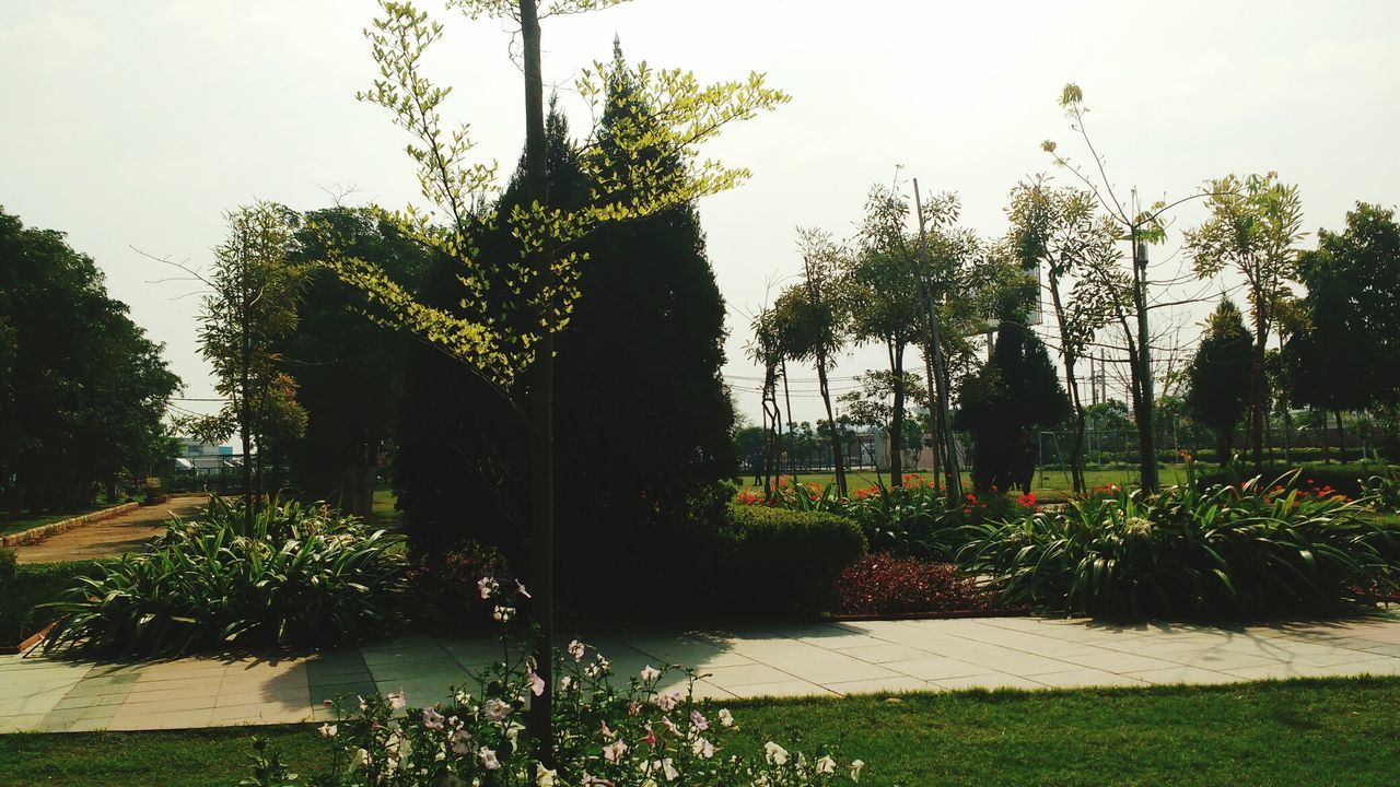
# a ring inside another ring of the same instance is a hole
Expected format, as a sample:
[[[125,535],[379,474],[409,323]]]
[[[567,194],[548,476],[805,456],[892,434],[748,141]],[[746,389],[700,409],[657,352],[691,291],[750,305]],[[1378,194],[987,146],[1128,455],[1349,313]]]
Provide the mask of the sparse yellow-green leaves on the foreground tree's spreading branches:
[[[543,18],[620,1],[547,0],[536,1],[536,8]],[[519,3],[511,0],[451,0],[448,7],[469,18],[519,18]],[[700,160],[699,146],[722,126],[788,101],[787,94],[769,88],[762,74],[701,84],[692,73],[652,70],[645,63],[633,70],[620,59],[595,63],[578,80],[580,95],[595,118],[619,80],[630,87],[631,101],[609,113],[608,144],[598,144],[595,133],[582,151],[584,175],[595,183],[588,204],[563,209],[533,202],[503,213],[483,207],[487,195],[497,190],[497,164],[469,160],[473,146],[468,127],[449,130],[442,120],[451,88],[434,85],[423,70],[423,55],[442,36],[442,27],[410,3],[381,0],[381,17],[364,31],[379,76],[357,98],[384,106],[395,125],[410,133],[405,150],[431,206],[410,206],[385,217],[406,237],[461,263],[461,308],[444,311],[417,301],[382,270],[335,252],[330,242],[329,265],[377,305],[377,321],[440,346],[503,391],[533,363],[540,339],[568,325],[587,259],[578,246],[588,234],[609,221],[643,218],[739,185],[748,169]],[[489,265],[479,259],[468,234],[490,227],[510,232],[515,259]]]

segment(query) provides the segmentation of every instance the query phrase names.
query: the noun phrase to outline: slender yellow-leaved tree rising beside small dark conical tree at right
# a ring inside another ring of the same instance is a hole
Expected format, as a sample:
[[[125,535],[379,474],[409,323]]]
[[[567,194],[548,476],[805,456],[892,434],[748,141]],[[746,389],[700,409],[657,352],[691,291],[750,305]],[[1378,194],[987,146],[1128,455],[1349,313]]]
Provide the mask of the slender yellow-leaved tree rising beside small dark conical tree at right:
[[[1278,174],[1250,175],[1243,181],[1228,175],[1207,186],[1210,220],[1186,232],[1196,274],[1218,276],[1226,267],[1245,277],[1249,293],[1254,349],[1249,367],[1249,443],[1254,469],[1264,466],[1264,417],[1268,413],[1268,374],[1264,353],[1292,291],[1302,239],[1302,202],[1298,188],[1278,182]]]

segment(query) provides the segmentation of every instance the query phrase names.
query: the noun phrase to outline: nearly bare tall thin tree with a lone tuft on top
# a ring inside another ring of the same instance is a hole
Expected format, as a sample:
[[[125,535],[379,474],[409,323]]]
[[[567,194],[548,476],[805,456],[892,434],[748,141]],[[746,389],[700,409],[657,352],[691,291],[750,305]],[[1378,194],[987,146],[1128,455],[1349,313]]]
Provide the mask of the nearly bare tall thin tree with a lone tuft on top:
[[[1058,146],[1046,140],[1040,143],[1042,150],[1049,153],[1054,162],[1075,175],[1093,195],[1095,202],[1117,227],[1119,241],[1128,244],[1127,270],[1109,260],[1099,265],[1086,266],[1082,272],[1085,286],[1084,297],[1095,300],[1107,308],[1112,325],[1120,332],[1123,351],[1128,365],[1128,391],[1133,399],[1133,415],[1138,433],[1138,469],[1141,485],[1147,492],[1158,489],[1156,468],[1156,430],[1154,413],[1156,409],[1155,368],[1152,365],[1152,330],[1149,315],[1159,308],[1180,305],[1182,301],[1166,301],[1152,298],[1149,290],[1155,283],[1151,279],[1151,265],[1148,262],[1148,245],[1159,244],[1166,238],[1166,224],[1163,216],[1176,206],[1203,196],[1204,193],[1168,203],[1158,200],[1142,209],[1137,190],[1128,199],[1119,197],[1117,189],[1109,181],[1103,157],[1089,137],[1085,116],[1088,108],[1084,105],[1084,91],[1079,85],[1067,84],[1060,92],[1060,106],[1070,118],[1070,127],[1079,134],[1093,161],[1093,172],[1086,174],[1068,157],[1058,153]],[[1113,260],[1116,262],[1116,259]]]

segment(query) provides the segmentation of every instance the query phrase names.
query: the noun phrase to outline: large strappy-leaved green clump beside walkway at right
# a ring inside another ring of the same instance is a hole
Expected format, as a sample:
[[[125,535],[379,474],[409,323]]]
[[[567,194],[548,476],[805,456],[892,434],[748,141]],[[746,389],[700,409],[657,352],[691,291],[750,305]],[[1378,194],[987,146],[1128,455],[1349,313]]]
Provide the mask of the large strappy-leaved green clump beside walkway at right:
[[[1001,601],[1114,618],[1334,612],[1392,592],[1400,527],[1362,501],[1274,485],[1100,492],[1001,524],[960,555]]]

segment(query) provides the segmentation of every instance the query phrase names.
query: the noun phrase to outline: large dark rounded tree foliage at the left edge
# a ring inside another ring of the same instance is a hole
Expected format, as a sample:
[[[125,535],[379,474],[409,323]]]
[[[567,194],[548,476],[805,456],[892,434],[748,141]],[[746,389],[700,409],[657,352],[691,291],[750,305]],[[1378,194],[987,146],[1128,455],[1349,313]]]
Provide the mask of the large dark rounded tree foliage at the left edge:
[[[0,209],[0,504],[80,508],[164,458],[179,378],[62,232]]]

